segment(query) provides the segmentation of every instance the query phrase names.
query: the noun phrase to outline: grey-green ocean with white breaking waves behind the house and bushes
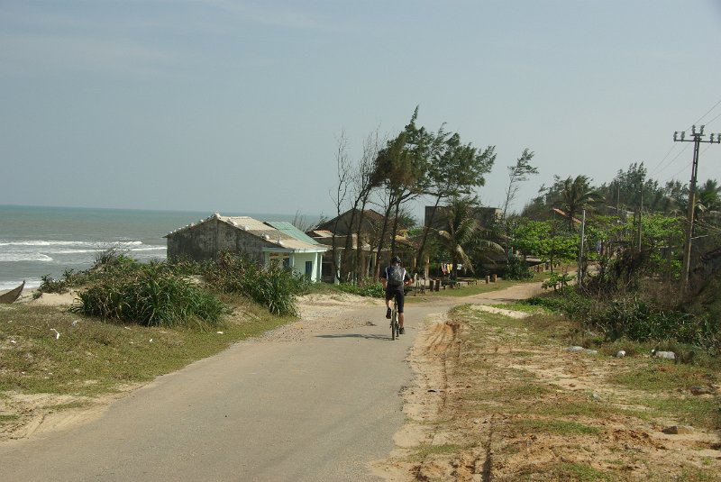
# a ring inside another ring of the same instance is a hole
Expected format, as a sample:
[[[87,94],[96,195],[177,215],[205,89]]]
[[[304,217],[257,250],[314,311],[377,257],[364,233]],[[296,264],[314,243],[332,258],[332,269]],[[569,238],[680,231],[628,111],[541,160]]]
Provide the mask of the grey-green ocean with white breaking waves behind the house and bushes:
[[[115,248],[132,259],[165,259],[169,232],[213,213],[0,205],[0,291],[38,287],[41,277],[90,268],[98,253]],[[294,215],[242,214],[260,221]],[[313,220],[315,221],[315,219]]]

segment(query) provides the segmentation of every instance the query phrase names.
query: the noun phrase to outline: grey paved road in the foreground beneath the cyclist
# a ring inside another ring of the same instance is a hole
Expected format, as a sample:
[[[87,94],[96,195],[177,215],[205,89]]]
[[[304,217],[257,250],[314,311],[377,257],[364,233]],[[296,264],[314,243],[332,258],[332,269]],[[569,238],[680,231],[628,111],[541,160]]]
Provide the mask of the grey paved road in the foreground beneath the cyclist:
[[[390,341],[376,326],[292,342],[245,342],[114,402],[65,431],[0,446],[0,479],[53,481],[379,480],[401,427],[399,390],[418,326],[447,306],[410,305]]]

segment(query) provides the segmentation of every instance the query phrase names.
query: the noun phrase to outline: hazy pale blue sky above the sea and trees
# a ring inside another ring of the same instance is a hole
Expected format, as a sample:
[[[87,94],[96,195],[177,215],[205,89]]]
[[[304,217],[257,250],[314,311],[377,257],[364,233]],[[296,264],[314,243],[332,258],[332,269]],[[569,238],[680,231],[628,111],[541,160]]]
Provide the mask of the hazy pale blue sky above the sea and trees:
[[[443,124],[539,175],[689,182],[721,0],[0,0],[0,205],[334,214],[339,138]],[[721,145],[699,180],[721,180]],[[420,200],[412,212],[422,213]]]

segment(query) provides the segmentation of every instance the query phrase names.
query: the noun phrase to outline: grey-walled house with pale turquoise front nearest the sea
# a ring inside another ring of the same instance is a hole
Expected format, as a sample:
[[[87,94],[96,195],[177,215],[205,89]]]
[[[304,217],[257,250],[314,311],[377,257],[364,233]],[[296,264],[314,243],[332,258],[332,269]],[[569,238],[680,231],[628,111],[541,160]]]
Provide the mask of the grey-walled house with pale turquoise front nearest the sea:
[[[265,266],[278,261],[319,281],[327,247],[287,222],[263,223],[249,216],[215,213],[198,223],[169,232],[168,258],[216,259],[223,251],[244,254]]]

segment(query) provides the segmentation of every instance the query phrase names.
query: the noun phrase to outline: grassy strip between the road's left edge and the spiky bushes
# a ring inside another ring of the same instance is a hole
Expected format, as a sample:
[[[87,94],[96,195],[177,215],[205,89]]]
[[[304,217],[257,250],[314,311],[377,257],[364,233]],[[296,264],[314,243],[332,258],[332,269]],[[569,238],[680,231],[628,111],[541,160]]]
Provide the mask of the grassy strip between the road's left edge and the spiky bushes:
[[[0,307],[0,392],[112,393],[292,320],[239,296],[222,298],[234,314],[213,328],[110,323],[52,306]]]

